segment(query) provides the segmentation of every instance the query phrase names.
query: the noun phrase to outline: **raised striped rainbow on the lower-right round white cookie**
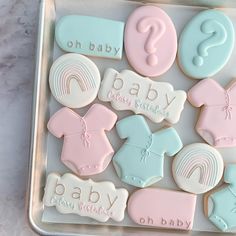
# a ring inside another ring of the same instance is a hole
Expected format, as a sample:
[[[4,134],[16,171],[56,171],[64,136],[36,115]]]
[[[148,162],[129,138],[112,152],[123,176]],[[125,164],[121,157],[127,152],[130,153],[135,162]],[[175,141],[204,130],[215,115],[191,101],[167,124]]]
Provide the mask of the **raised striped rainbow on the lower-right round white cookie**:
[[[190,178],[197,169],[200,170],[200,184],[215,186],[220,170],[217,158],[212,152],[193,149],[186,153],[177,164],[176,174]]]

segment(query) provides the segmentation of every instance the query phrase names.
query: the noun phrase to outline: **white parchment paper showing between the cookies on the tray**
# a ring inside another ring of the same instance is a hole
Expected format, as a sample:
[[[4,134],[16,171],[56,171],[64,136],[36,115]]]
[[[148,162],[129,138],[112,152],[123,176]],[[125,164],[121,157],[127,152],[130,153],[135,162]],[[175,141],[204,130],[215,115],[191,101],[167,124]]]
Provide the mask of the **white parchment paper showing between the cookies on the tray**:
[[[91,15],[96,17],[103,17],[113,20],[126,21],[129,14],[138,6],[141,6],[141,3],[129,2],[123,0],[55,0],[56,2],[56,16],[57,20],[64,15],[68,14],[82,14],[82,15]],[[175,5],[159,5],[167,14],[171,17],[176,27],[178,36],[180,35],[184,25],[189,22],[189,20],[198,12],[203,10],[199,7],[187,7],[187,6],[175,6]],[[236,28],[236,10],[234,9],[223,9],[226,14],[231,18]],[[193,36],[194,37],[194,36]],[[61,51],[56,43],[54,43],[54,59],[58,58],[64,52]],[[131,69],[128,65],[125,52],[123,52],[122,60],[111,60],[111,59],[102,59],[102,58],[91,58],[93,60],[103,77],[104,70],[106,68],[112,67],[118,71],[122,69]],[[214,76],[214,79],[219,81],[222,86],[226,86],[233,77],[236,75],[236,50],[234,50],[233,55],[229,63],[220,71],[217,75]],[[157,81],[170,82],[175,89],[183,89],[185,91],[189,90],[198,80],[192,80],[187,78],[179,69],[177,65],[177,60],[171,69],[162,75],[159,78],[155,78]],[[96,100],[95,102],[99,102]],[[101,103],[101,102],[99,102]],[[109,103],[103,103],[107,107],[111,108]],[[78,109],[81,115],[83,115],[91,105]],[[59,105],[53,97],[50,98],[50,115],[54,114],[59,110],[61,105]],[[112,109],[112,108],[111,108]],[[119,116],[119,119],[131,115],[131,112],[116,112]],[[204,142],[200,136],[194,130],[195,123],[198,119],[199,109],[193,108],[188,102],[185,104],[185,109],[182,112],[181,119],[178,124],[174,125],[178,131],[184,145],[194,143],[194,142]],[[150,125],[152,131],[157,131],[158,129],[165,127],[165,123],[154,124],[146,119]],[[119,149],[122,145],[122,140],[116,134],[115,129],[109,132],[108,137],[115,150]],[[60,161],[60,154],[62,148],[63,140],[59,140],[56,137],[48,134],[47,141],[47,173],[58,172],[64,174],[70,172]],[[225,163],[236,161],[236,148],[227,148],[219,149],[223,155]],[[171,163],[172,157],[165,157],[164,165],[164,178],[153,185],[154,187],[168,188],[173,190],[178,190],[179,188],[175,184],[172,173],[171,173]],[[94,181],[112,181],[116,187],[124,187],[130,193],[132,193],[135,188],[127,184],[122,183],[116,175],[116,172],[113,168],[112,163],[109,167],[101,174],[91,177]],[[203,213],[203,196],[198,195],[197,206],[194,219],[193,230],[196,231],[217,231],[216,227],[208,221]],[[145,202],[143,204],[146,204]],[[94,221],[93,219],[87,217],[80,217],[77,215],[63,215],[58,213],[54,207],[45,208],[42,221],[48,223],[74,223],[74,224],[100,224],[99,222]],[[101,223],[102,225],[123,225],[131,227],[140,227],[132,222],[126,213],[125,219],[120,222],[114,222],[109,220],[106,223]]]

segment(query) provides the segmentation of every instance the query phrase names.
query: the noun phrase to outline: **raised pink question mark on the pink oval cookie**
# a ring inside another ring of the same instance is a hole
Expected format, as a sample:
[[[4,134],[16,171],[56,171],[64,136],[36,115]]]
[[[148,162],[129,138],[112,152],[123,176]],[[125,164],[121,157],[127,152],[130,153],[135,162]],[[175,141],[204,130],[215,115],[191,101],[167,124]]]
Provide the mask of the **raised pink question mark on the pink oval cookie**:
[[[149,54],[147,64],[150,66],[157,65],[156,45],[166,31],[164,22],[156,17],[144,17],[138,22],[137,30],[142,34],[149,32],[144,46],[145,51]]]

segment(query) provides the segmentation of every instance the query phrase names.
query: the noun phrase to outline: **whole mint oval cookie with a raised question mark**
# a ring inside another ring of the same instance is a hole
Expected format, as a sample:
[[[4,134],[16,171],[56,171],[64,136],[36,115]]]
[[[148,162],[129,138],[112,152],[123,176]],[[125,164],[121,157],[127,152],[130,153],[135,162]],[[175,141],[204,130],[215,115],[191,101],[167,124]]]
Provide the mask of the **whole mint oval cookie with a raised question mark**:
[[[219,72],[234,48],[234,27],[223,11],[206,10],[185,26],[178,47],[178,61],[183,72],[203,79]]]

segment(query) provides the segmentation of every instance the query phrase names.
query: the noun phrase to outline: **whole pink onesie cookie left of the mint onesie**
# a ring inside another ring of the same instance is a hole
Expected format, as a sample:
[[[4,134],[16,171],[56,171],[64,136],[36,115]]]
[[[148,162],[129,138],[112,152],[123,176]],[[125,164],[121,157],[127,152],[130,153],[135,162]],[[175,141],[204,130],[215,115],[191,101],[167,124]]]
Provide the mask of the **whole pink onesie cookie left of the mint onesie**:
[[[77,175],[98,174],[106,169],[114,150],[105,134],[113,128],[117,116],[100,104],[94,104],[84,116],[64,107],[48,122],[48,130],[64,137],[61,161]]]

